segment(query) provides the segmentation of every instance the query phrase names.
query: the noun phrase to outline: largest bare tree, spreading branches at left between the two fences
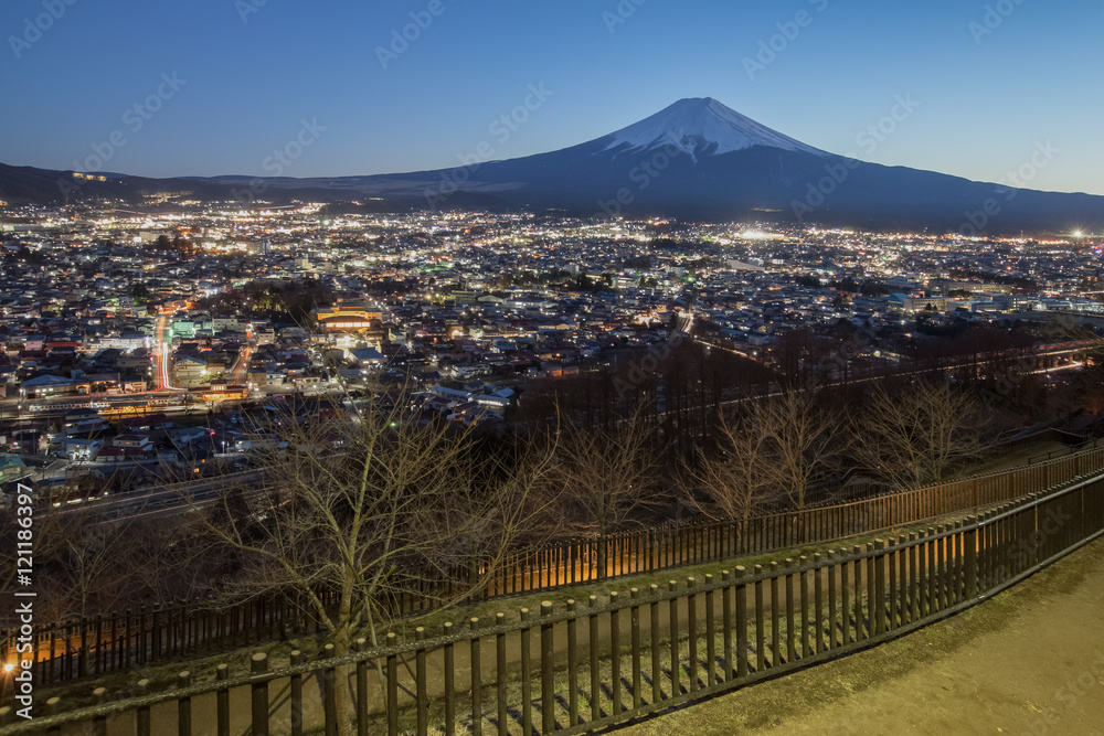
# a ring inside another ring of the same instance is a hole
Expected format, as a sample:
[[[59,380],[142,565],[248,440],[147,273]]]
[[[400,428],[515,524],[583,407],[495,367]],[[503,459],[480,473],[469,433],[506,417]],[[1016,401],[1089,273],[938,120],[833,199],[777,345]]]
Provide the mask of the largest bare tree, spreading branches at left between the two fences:
[[[548,465],[412,420],[401,404],[326,419],[288,410],[253,434],[263,487],[225,489],[200,515],[238,559],[226,591],[288,595],[339,651],[362,630],[378,644],[403,595],[439,608],[478,593],[523,537]]]

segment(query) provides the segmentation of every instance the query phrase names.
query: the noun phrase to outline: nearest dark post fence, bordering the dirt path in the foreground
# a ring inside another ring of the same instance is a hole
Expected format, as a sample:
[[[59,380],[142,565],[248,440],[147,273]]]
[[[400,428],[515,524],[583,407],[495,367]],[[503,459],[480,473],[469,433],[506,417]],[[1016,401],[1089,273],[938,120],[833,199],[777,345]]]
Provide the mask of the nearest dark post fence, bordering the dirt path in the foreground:
[[[541,604],[312,662],[221,665],[215,680],[102,703],[4,733],[580,734],[868,648],[970,607],[1104,535],[1104,474],[965,522],[720,579]],[[304,687],[310,683],[310,686]],[[139,683],[139,690],[148,682]],[[232,704],[236,704],[232,707]],[[52,698],[49,706],[64,703]],[[0,724],[11,724],[10,708]]]

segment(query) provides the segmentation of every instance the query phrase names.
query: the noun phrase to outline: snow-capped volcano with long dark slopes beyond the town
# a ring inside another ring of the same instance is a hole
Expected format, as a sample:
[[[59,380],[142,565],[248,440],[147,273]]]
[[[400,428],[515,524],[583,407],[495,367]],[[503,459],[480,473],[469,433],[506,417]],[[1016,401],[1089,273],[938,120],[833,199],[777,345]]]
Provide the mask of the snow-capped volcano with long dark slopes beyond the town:
[[[0,167],[0,199],[51,201],[49,182],[64,173]],[[711,98],[682,99],[608,136],[506,161],[474,158],[452,169],[369,177],[125,178],[83,189],[105,195],[160,189],[242,201],[371,200],[373,209],[392,210],[554,210],[966,234],[1104,227],[1104,196],[1016,190],[866,163],[805,145]]]

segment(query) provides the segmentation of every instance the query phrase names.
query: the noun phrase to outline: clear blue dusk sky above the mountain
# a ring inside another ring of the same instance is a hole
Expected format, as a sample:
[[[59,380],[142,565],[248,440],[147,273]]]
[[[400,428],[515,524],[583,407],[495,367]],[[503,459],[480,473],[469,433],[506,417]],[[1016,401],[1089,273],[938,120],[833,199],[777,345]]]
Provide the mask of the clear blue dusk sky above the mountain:
[[[0,9],[0,161],[74,168],[96,146],[106,171],[264,174],[306,120],[325,130],[287,175],[413,171],[711,96],[818,148],[986,181],[1050,141],[1022,184],[1104,194],[1100,0],[70,2]],[[411,13],[432,22],[392,50]],[[492,128],[542,84],[523,124]]]

